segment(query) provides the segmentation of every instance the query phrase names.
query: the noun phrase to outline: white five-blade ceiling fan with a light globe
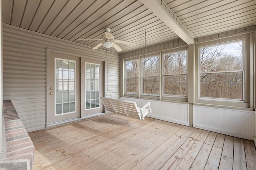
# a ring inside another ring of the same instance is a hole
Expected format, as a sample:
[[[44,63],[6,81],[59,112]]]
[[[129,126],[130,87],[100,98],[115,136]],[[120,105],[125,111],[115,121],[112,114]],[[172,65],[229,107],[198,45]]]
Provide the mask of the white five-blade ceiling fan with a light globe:
[[[114,39],[114,36],[112,33],[110,33],[110,28],[105,28],[106,32],[101,36],[101,39],[96,39],[96,38],[81,38],[79,40],[100,40],[104,41],[102,43],[99,43],[96,45],[93,50],[98,49],[100,46],[106,47],[107,49],[110,47],[114,47],[116,51],[120,52],[122,49],[116,45],[116,43],[122,43],[122,44],[127,44],[127,45],[134,45],[134,43],[128,42],[128,41],[121,41]]]

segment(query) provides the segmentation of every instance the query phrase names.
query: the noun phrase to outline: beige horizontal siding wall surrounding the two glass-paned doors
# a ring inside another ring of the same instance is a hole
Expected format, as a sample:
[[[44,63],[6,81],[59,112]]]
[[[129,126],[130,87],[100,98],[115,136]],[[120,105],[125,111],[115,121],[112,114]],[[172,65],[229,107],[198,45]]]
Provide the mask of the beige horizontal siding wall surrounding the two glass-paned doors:
[[[46,127],[46,48],[106,61],[105,51],[6,24],[3,31],[3,98],[12,100],[28,132]],[[114,97],[120,96],[119,77],[119,55],[108,52],[108,86]]]

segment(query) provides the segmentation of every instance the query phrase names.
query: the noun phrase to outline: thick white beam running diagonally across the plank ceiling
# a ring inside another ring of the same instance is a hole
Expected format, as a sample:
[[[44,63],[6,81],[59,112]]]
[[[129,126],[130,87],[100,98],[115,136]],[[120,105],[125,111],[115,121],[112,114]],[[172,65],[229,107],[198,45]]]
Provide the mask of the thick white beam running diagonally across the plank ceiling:
[[[194,44],[194,37],[174,15],[163,0],[140,0],[151,12],[162,20],[174,33],[188,45]]]

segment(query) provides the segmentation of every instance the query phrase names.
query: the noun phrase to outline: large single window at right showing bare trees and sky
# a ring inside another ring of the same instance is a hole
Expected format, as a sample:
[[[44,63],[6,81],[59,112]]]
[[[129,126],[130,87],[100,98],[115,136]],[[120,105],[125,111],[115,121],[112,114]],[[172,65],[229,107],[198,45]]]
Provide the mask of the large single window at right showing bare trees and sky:
[[[243,41],[199,48],[199,97],[244,100]]]

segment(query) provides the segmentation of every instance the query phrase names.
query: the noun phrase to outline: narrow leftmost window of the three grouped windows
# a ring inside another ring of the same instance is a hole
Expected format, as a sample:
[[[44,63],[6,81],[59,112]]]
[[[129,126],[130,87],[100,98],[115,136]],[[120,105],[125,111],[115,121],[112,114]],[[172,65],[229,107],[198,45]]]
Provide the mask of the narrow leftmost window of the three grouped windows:
[[[125,92],[139,93],[139,60],[125,62],[125,84]]]

